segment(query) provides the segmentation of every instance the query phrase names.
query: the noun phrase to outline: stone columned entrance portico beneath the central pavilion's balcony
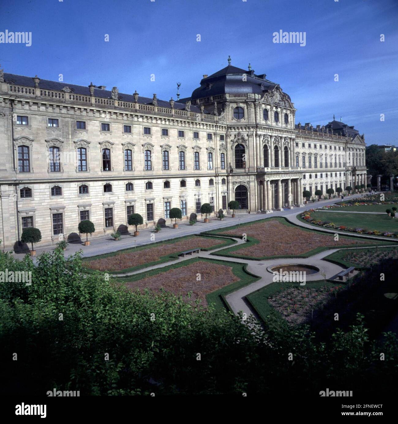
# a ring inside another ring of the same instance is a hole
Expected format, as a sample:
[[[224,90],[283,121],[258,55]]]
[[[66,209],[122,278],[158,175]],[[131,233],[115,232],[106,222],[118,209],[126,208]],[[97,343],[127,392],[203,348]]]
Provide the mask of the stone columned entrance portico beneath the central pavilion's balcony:
[[[268,213],[283,210],[284,207],[292,209],[293,206],[301,206],[304,204],[303,179],[257,180],[257,202],[257,210]]]

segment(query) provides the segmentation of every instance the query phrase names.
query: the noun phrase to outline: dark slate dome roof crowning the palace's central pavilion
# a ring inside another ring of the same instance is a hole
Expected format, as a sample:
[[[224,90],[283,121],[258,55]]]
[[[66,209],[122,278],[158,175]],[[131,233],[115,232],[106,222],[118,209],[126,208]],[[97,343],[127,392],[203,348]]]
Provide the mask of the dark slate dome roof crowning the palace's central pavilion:
[[[242,81],[243,74],[246,74],[246,81]],[[228,65],[207,78],[203,78],[200,81],[200,87],[193,90],[191,100],[226,93],[262,94],[279,85],[267,80],[265,76],[265,74],[254,74],[253,70],[244,70]],[[290,100],[290,97],[287,97]]]

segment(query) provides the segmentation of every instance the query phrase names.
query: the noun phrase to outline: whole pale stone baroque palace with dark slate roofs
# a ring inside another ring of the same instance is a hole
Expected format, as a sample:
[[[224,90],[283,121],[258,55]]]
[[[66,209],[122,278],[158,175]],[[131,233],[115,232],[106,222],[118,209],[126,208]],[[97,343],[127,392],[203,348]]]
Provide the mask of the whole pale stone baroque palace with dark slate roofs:
[[[365,139],[353,126],[295,123],[294,104],[265,74],[228,66],[203,75],[190,98],[163,101],[0,70],[0,239],[17,248],[27,226],[40,244],[185,219],[237,200],[270,213],[366,184]],[[177,95],[178,97],[178,95]],[[239,212],[240,212],[239,211]]]

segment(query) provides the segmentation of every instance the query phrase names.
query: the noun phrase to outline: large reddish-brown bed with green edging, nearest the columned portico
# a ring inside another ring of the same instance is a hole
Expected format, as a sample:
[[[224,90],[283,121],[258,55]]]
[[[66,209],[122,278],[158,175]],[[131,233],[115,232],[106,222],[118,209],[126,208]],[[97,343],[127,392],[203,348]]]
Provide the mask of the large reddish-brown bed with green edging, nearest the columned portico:
[[[329,212],[325,212],[329,213]],[[239,246],[222,249],[214,255],[240,257],[243,259],[303,258],[336,247],[353,245],[370,246],[379,241],[359,237],[340,236],[334,240],[334,234],[328,234],[293,225],[285,218],[266,218],[264,220],[210,231],[205,234],[247,236],[247,242]],[[385,244],[385,242],[383,242]]]

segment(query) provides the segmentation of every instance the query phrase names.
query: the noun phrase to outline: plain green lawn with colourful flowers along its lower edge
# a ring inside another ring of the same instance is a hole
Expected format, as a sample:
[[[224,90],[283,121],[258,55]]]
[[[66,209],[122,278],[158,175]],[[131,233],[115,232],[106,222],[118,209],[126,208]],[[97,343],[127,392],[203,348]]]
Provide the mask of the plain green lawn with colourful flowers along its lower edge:
[[[386,213],[376,215],[345,212],[312,212],[311,218],[314,218],[314,220],[329,221],[337,226],[344,225],[351,228],[363,228],[368,231],[398,231],[398,218],[391,218]]]

